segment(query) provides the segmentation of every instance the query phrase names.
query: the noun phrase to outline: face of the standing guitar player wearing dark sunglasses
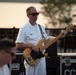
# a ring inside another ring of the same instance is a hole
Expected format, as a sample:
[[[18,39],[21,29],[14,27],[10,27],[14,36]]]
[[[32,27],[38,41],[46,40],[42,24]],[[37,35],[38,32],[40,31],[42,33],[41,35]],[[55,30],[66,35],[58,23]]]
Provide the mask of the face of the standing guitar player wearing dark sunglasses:
[[[28,12],[28,18],[30,21],[37,21],[39,13],[37,12],[37,10],[35,8],[31,8]]]

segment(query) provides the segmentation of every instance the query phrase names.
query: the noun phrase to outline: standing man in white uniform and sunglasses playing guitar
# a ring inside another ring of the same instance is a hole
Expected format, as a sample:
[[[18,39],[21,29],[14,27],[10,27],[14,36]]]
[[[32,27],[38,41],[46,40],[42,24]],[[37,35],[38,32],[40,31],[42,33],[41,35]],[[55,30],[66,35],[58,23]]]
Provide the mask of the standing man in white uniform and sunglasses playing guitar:
[[[53,38],[48,38],[45,28],[41,26],[42,34],[39,28],[37,21],[38,18],[38,11],[35,7],[30,6],[26,9],[27,17],[29,18],[29,21],[20,28],[17,40],[16,40],[16,46],[19,49],[25,49],[25,48],[31,48],[35,52],[38,52],[39,49],[36,46],[39,40],[42,39],[42,35],[45,38],[45,44],[52,40]],[[45,57],[43,57],[39,64],[37,66],[30,66],[26,61],[24,61],[24,65],[26,68],[26,75],[46,75],[46,62]]]

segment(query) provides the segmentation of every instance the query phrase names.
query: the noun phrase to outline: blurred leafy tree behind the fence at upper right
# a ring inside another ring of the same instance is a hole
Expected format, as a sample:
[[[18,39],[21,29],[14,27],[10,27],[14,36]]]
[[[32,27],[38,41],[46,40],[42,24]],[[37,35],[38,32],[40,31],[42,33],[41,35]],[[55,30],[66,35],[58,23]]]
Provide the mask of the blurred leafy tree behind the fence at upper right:
[[[69,25],[72,21],[71,9],[76,0],[41,0],[41,13],[47,17],[48,23],[59,27],[64,23]],[[46,25],[47,26],[47,25]]]

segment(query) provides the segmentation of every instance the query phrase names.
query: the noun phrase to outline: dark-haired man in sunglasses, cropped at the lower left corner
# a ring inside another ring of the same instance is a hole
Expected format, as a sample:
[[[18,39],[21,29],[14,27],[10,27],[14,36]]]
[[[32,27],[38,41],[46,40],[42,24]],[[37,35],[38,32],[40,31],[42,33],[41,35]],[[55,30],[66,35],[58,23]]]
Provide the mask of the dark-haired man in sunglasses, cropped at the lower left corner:
[[[11,75],[8,64],[15,59],[16,46],[10,39],[0,40],[0,75]]]

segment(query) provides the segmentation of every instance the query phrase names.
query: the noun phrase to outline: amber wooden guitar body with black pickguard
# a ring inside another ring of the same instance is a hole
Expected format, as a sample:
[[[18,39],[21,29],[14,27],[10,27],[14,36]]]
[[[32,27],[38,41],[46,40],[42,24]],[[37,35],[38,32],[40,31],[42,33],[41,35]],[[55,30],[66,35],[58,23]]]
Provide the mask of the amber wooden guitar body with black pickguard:
[[[38,52],[35,52],[31,48],[26,48],[23,52],[24,59],[30,66],[36,66],[42,57],[47,56],[47,53],[43,54],[43,43],[44,39],[40,40],[37,44],[37,47],[39,48]]]

